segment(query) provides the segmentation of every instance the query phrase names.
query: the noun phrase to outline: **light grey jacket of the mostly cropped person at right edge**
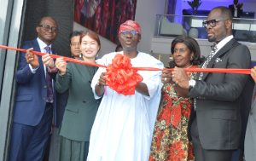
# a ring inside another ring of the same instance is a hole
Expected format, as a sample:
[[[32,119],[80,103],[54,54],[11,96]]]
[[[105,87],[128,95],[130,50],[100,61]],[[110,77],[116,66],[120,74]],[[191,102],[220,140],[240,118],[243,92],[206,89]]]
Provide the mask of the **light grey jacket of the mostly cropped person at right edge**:
[[[246,161],[256,160],[256,85],[253,90],[252,107],[247,122],[247,132],[245,137],[245,159]]]

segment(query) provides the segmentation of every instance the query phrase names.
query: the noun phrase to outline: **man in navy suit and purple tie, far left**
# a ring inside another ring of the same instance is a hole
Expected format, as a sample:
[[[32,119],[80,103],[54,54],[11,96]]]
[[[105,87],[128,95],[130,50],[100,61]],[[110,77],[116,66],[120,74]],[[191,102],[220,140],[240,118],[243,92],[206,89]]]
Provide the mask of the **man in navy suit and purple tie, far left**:
[[[54,53],[52,43],[58,26],[51,17],[43,17],[36,28],[38,38],[26,41],[20,53],[16,72],[14,123],[9,161],[41,161],[49,142],[55,96],[53,89],[55,64],[49,55],[42,58],[35,51]],[[52,73],[53,72],[53,73]]]

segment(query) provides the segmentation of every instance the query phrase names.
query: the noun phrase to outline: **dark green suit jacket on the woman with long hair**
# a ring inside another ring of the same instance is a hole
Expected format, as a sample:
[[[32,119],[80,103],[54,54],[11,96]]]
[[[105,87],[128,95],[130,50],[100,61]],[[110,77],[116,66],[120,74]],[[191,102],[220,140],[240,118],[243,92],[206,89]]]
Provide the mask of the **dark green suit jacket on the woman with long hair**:
[[[95,72],[96,67],[68,63],[66,74],[56,76],[56,90],[69,91],[60,130],[60,135],[67,139],[90,140],[90,129],[99,106],[90,87]]]

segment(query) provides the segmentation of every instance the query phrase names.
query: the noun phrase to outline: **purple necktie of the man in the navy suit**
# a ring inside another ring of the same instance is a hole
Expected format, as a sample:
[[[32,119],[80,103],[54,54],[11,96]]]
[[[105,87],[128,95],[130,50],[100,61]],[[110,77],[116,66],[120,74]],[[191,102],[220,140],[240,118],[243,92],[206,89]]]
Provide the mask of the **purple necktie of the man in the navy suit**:
[[[49,53],[50,54],[50,47],[47,46],[44,48],[46,53]],[[51,78],[49,77],[49,73],[47,72],[47,70],[45,71],[46,74],[45,74],[45,80],[46,80],[46,83],[47,83],[47,96],[46,96],[46,102],[49,102],[49,103],[53,103],[53,88],[52,88],[52,80]]]

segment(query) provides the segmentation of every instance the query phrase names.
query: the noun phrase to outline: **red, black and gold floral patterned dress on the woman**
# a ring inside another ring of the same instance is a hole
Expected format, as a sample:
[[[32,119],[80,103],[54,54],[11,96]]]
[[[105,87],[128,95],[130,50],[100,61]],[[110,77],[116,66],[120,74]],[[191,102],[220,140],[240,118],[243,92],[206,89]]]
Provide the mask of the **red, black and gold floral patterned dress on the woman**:
[[[195,73],[189,74],[189,77],[195,78]],[[178,96],[173,86],[172,83],[166,83],[162,88],[149,161],[194,160],[192,143],[188,138],[193,100]]]

